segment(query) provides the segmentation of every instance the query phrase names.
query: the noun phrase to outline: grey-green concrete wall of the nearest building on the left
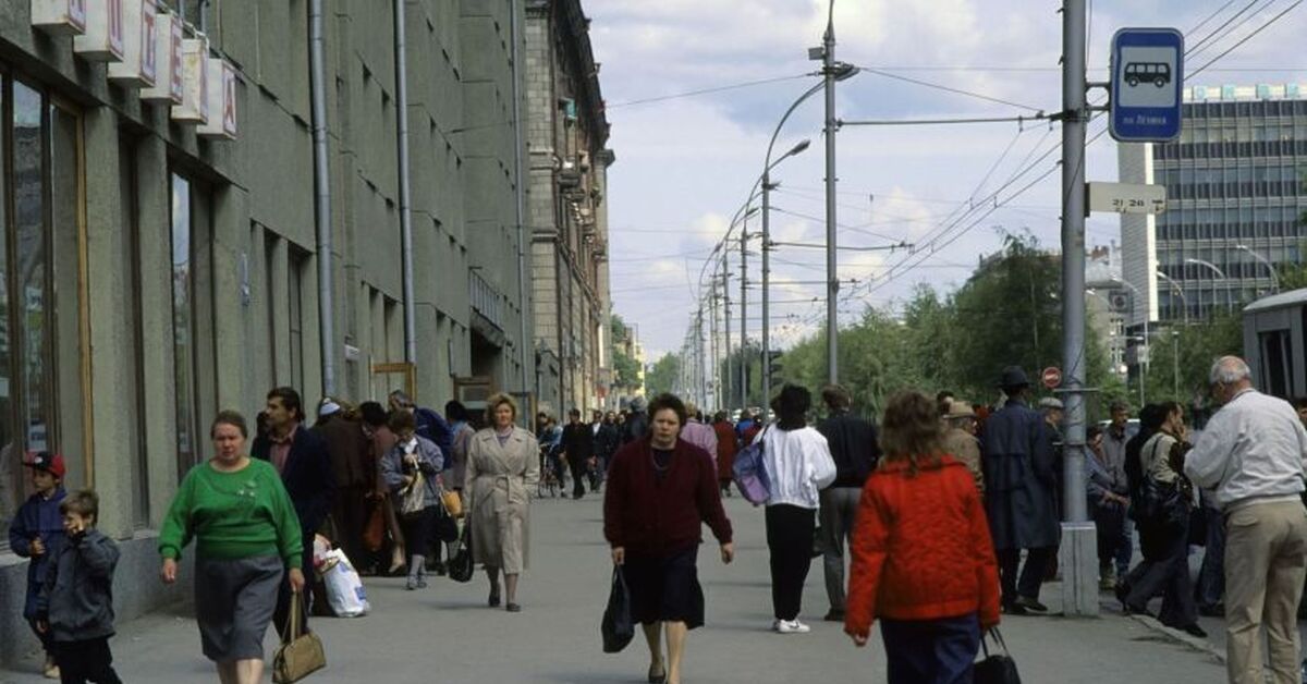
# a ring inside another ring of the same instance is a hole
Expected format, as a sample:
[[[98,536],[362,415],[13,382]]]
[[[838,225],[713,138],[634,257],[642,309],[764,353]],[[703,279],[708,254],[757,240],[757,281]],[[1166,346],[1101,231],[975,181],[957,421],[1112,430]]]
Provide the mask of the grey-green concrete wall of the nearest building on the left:
[[[336,331],[327,348],[337,394],[384,400],[403,375],[374,374],[372,365],[404,361],[392,4],[325,5]],[[521,0],[408,0],[404,8],[413,361],[418,400],[439,407],[454,396],[456,377],[484,373],[499,388],[521,390],[520,351],[535,347],[520,339],[531,309],[518,298],[515,260],[519,137],[510,27],[512,12],[519,25],[524,14]],[[201,24],[193,1],[187,20]],[[200,140],[193,127],[170,123],[166,107],[110,85],[103,65],[74,58],[71,39],[34,31],[29,3],[0,3],[0,69],[81,122],[85,259],[81,271],[78,259],[55,264],[59,282],[82,280],[60,289],[59,309],[47,311],[61,354],[68,352],[55,382],[58,430],[48,428],[58,432],[51,446],[77,464],[67,484],[99,490],[101,527],[123,545],[120,620],[187,591],[158,583],[154,552],[159,521],[190,466],[176,455],[182,436],[190,432],[203,458],[208,421],[220,407],[252,417],[276,385],[298,386],[308,408],[323,391],[307,0],[217,0],[203,24],[213,54],[239,72],[235,141]],[[521,77],[531,75],[523,69]],[[195,387],[188,392],[178,391],[174,375],[170,174],[190,179],[192,190]],[[76,248],[76,230],[56,230],[52,243]],[[18,421],[8,404],[0,413],[0,422]],[[22,497],[12,463],[24,446],[30,445],[10,441],[4,450],[5,523]],[[35,645],[20,619],[26,561],[5,548],[0,663]]]

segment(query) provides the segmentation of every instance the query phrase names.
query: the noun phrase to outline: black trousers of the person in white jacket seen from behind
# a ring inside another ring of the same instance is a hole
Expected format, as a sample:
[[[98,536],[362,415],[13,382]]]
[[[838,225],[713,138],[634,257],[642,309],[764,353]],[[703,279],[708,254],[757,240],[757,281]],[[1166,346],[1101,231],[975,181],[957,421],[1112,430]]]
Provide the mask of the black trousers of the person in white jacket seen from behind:
[[[776,620],[799,617],[804,582],[812,568],[817,511],[788,504],[767,506],[767,551],[771,565],[771,608]]]

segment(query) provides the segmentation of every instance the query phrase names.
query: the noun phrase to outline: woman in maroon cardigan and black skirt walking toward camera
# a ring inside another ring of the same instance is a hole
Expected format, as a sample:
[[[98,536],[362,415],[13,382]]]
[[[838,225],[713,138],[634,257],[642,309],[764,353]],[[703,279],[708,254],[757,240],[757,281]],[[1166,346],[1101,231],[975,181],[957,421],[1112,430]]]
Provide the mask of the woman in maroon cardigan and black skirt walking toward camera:
[[[604,538],[630,589],[631,619],[644,630],[648,680],[680,684],[686,634],[703,625],[697,568],[703,523],[720,543],[721,562],[735,558],[735,544],[711,456],[680,438],[689,417],[685,404],[663,394],[650,404],[650,415],[651,436],[613,456],[604,493]]]

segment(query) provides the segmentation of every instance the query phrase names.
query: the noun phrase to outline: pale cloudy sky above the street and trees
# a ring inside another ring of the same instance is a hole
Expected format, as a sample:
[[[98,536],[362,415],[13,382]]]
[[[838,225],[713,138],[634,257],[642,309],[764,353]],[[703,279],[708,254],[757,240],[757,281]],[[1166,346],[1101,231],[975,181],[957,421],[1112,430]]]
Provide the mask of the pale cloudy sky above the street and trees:
[[[818,82],[808,48],[821,44],[826,0],[583,0],[612,124],[608,221],[613,313],[637,327],[654,361],[680,349],[710,254],[762,173],[782,115]],[[1185,33],[1187,85],[1307,82],[1307,7],[1300,0],[1091,0],[1089,80],[1106,80],[1123,26]],[[836,89],[850,120],[1030,116],[1061,106],[1056,1],[835,0],[835,56],[865,71]],[[1286,14],[1274,20],[1277,14]],[[1255,35],[1252,35],[1257,31]],[[1251,35],[1251,38],[1248,38]],[[1239,41],[1242,46],[1221,56]],[[1218,59],[1219,58],[1219,59]],[[874,71],[870,71],[874,69]],[[941,88],[965,90],[970,94]],[[758,82],[766,81],[766,82]],[[752,85],[746,85],[752,84]],[[702,94],[687,94],[712,90]],[[983,97],[976,97],[983,95]],[[1104,97],[1091,90],[1091,102]],[[825,243],[822,97],[805,101],[776,139],[772,241]],[[1090,124],[1093,140],[1106,119]],[[963,284],[1005,234],[1057,248],[1060,127],[1042,120],[966,126],[844,127],[836,135],[836,245],[911,248],[839,252],[840,320],[867,306],[895,310],[921,284]],[[1089,180],[1116,180],[1106,133],[1086,156]],[[996,208],[997,205],[997,208]],[[757,218],[749,230],[759,230]],[[737,233],[738,234],[738,233]],[[1089,245],[1120,242],[1115,216],[1094,214]],[[761,279],[759,242],[749,284]],[[738,239],[731,297],[738,340]],[[825,250],[771,252],[771,344],[786,348],[825,324]],[[750,286],[749,335],[761,331]]]

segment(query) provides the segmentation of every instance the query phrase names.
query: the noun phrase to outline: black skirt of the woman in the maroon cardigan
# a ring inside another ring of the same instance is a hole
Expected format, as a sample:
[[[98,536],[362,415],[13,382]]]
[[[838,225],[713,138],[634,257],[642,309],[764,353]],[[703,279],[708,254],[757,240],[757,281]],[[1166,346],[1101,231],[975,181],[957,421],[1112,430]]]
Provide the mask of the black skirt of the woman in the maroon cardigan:
[[[665,557],[627,556],[622,573],[631,591],[631,620],[652,623],[685,623],[694,629],[703,626],[703,587],[695,565],[699,547]]]

